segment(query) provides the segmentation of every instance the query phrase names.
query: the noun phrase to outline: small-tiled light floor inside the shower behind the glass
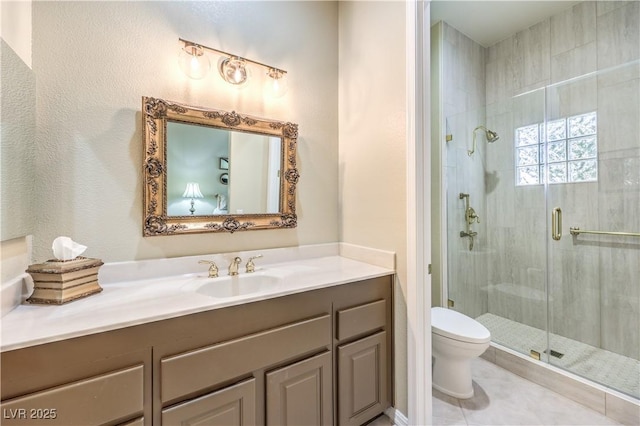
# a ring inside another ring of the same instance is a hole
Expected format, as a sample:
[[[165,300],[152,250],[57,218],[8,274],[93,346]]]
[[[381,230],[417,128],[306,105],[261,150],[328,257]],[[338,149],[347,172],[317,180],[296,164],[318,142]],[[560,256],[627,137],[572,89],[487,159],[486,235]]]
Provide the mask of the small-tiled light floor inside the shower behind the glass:
[[[544,353],[545,331],[490,313],[476,319],[491,331],[491,339],[498,344],[524,354],[533,349],[541,354],[541,360],[556,367],[640,398],[640,361],[636,359],[555,334],[549,336],[551,350],[562,357],[549,357]]]

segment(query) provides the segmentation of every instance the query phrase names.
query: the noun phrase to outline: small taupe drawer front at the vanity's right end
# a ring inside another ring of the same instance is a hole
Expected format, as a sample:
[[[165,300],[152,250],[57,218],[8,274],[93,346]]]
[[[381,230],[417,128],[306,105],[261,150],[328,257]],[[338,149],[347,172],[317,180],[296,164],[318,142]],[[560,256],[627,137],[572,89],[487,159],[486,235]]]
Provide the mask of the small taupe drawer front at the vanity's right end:
[[[386,320],[387,304],[384,300],[340,310],[336,331],[338,340],[382,329]]]

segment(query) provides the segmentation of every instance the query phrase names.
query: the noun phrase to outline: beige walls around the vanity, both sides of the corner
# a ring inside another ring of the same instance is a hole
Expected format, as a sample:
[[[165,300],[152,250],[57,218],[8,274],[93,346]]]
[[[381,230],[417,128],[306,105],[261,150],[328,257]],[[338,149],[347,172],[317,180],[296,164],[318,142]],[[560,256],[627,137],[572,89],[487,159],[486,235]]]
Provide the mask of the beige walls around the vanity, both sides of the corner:
[[[287,95],[189,80],[178,37],[283,67]],[[402,2],[35,2],[33,261],[58,235],[107,262],[334,241],[395,251],[407,413],[404,38]],[[298,123],[299,227],[143,238],[142,96]]]

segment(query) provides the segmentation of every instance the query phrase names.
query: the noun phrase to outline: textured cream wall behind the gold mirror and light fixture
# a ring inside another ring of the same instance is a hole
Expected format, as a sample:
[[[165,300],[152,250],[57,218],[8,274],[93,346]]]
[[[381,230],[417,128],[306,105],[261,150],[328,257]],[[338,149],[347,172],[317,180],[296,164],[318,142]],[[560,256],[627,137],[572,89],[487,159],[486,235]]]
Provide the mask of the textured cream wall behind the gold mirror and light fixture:
[[[58,235],[104,261],[338,240],[336,3],[36,2],[33,8],[34,260],[50,256]],[[258,85],[237,90],[215,71],[188,79],[177,65],[179,37],[286,69],[287,95],[263,98]],[[142,96],[298,123],[298,228],[143,238]]]

